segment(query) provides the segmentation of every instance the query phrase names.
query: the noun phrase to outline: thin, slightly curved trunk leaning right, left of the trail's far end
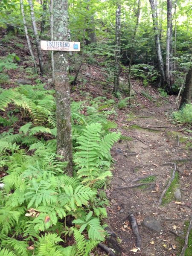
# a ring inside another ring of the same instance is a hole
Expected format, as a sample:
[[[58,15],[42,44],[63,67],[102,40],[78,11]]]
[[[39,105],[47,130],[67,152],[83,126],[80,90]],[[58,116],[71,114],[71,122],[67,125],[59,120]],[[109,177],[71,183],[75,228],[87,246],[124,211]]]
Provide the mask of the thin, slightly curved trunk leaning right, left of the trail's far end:
[[[134,29],[134,34],[131,40],[131,57],[129,60],[129,71],[128,71],[128,96],[131,96],[131,65],[132,65],[132,59],[133,59],[133,54],[134,54],[134,46],[135,46],[135,35],[137,32],[137,27],[139,24],[139,17],[140,17],[140,0],[138,0],[138,8],[137,8],[137,20],[136,20],[136,25],[135,25],[135,29]]]

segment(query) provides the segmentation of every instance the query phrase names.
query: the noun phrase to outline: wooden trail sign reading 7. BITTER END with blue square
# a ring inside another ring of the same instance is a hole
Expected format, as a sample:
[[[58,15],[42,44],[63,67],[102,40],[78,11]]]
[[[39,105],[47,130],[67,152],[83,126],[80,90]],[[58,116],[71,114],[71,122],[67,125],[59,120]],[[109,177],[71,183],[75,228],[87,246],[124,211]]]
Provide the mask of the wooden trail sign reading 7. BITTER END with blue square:
[[[79,42],[41,41],[41,50],[79,52]]]

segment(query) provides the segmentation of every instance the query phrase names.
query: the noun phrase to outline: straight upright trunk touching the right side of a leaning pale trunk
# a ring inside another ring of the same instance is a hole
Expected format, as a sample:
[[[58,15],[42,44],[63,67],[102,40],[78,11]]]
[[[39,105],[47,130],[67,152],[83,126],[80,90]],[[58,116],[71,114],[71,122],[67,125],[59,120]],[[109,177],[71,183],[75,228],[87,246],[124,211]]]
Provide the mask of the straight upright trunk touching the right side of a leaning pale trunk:
[[[172,49],[172,0],[167,0],[167,40],[166,40],[166,90],[172,91],[171,76],[170,76],[170,52]]]

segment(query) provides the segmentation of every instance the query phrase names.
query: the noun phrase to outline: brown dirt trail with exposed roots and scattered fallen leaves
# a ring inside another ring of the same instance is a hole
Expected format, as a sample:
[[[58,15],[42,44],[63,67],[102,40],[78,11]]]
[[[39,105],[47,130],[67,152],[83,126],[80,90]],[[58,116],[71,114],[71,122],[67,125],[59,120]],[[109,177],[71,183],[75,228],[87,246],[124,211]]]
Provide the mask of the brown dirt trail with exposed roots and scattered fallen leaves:
[[[186,143],[178,145],[178,138],[186,137],[186,134],[183,134],[180,127],[169,122],[168,114],[172,108],[173,105],[165,104],[162,107],[140,109],[132,115],[119,116],[122,134],[133,140],[120,140],[112,151],[115,163],[111,188],[107,190],[111,202],[108,207],[108,224],[122,240],[124,256],[176,255],[180,248],[176,235],[172,232],[183,236],[184,223],[192,214],[192,162],[180,160],[192,159],[192,151],[190,148],[186,149]],[[179,137],[171,136],[172,131],[174,135],[177,131]],[[172,175],[173,163],[177,164],[178,187],[182,198],[172,198],[169,203],[158,207],[161,192]],[[143,183],[142,179],[137,179],[148,175],[154,175],[145,180],[151,184],[126,188]],[[137,219],[142,236],[141,251],[137,253],[130,251],[136,247],[128,220],[130,211]],[[145,227],[143,220],[146,217],[160,221],[161,230],[154,232]]]

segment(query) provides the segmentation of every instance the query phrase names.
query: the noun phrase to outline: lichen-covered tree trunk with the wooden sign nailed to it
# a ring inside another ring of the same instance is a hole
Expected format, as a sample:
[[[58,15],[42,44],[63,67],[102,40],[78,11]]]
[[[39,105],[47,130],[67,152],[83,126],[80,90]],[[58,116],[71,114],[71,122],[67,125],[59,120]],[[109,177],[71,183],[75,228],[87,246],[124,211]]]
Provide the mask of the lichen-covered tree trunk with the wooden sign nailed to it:
[[[55,41],[67,41],[68,0],[53,1],[53,31]],[[54,52],[55,94],[57,114],[57,154],[68,161],[68,174],[73,175],[68,53]]]

